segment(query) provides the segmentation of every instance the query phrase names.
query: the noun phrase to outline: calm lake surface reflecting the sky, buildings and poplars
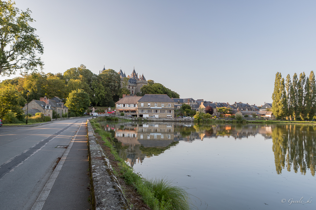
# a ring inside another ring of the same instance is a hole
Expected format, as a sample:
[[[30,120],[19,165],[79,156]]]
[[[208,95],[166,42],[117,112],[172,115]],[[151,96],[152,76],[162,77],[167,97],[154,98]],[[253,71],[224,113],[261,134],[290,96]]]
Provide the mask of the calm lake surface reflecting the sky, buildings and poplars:
[[[316,208],[316,126],[157,122],[103,126],[136,172],[189,188],[192,208]]]

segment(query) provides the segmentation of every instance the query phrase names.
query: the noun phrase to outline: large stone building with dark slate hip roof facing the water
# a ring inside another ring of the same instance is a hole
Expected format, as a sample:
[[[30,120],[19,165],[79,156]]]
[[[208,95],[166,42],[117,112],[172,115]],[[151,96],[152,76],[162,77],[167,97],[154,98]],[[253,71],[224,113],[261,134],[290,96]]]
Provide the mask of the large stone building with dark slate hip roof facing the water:
[[[174,101],[166,94],[145,94],[138,100],[137,117],[174,118]]]

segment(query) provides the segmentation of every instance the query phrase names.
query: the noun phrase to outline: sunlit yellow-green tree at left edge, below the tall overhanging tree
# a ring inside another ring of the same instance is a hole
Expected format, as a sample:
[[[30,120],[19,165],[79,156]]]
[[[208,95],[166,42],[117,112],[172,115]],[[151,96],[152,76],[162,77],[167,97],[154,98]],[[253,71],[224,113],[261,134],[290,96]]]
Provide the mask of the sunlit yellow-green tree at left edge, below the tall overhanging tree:
[[[27,101],[23,98],[13,85],[0,87],[0,119],[3,119],[8,113],[7,118],[16,117],[20,121],[23,120],[24,107]],[[12,120],[9,120],[12,122]]]

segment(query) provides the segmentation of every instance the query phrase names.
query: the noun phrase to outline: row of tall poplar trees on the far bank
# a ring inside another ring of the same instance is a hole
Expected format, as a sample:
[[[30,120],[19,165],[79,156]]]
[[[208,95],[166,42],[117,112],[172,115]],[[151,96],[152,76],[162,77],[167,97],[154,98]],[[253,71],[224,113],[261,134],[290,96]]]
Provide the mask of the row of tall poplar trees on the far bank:
[[[288,74],[284,83],[281,73],[276,73],[272,94],[272,112],[276,119],[312,120],[316,114],[316,85],[314,72],[309,77]]]

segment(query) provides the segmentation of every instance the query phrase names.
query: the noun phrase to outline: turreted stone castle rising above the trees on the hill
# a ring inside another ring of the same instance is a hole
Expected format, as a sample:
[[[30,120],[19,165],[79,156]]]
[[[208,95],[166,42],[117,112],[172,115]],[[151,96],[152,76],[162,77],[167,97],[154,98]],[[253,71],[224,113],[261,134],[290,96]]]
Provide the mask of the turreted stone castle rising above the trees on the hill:
[[[104,71],[105,68],[103,68],[102,71]],[[119,76],[121,78],[121,88],[123,88],[123,80],[124,78],[128,78],[128,85],[126,86],[126,88],[131,92],[132,95],[136,95],[138,92],[140,92],[141,87],[143,87],[144,85],[148,85],[147,80],[145,79],[144,75],[142,75],[142,77],[138,78],[138,74],[135,72],[135,67],[133,72],[130,75],[125,75],[125,73],[123,73],[122,69],[120,69],[120,71],[118,72]]]

